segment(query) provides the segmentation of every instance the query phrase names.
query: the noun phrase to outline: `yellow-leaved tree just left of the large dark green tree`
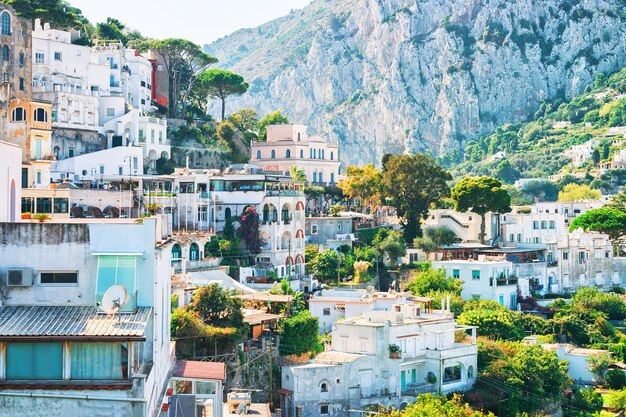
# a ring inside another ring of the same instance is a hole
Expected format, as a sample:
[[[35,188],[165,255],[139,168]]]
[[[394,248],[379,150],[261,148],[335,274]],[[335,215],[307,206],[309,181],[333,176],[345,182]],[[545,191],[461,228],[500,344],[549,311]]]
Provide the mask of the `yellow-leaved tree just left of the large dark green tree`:
[[[337,186],[346,197],[358,200],[361,209],[372,208],[380,200],[382,179],[382,174],[374,164],[363,167],[349,165],[346,168],[346,179],[339,181]]]

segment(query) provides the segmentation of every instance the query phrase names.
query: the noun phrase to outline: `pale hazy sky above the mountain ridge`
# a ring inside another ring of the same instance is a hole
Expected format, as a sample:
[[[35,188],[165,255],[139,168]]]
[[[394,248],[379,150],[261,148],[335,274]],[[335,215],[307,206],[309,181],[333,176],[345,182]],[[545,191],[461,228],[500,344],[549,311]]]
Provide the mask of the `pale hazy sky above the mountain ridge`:
[[[115,17],[152,38],[200,45],[300,9],[311,0],[69,0],[92,23]]]

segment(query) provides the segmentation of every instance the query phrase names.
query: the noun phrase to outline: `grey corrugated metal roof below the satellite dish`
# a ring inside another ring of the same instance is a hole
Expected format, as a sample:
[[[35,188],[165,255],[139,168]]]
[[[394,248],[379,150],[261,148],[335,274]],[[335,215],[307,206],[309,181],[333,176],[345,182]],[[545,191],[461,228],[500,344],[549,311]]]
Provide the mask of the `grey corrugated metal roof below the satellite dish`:
[[[0,307],[0,340],[145,340],[151,308],[107,316],[89,306]]]

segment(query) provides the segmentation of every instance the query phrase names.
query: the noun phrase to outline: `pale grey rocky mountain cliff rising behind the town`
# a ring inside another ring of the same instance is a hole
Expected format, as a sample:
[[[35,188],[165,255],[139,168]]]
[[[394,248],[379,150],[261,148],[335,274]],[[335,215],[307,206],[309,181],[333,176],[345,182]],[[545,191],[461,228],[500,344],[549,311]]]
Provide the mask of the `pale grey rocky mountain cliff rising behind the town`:
[[[625,64],[625,0],[319,0],[206,50],[346,163],[440,155]]]

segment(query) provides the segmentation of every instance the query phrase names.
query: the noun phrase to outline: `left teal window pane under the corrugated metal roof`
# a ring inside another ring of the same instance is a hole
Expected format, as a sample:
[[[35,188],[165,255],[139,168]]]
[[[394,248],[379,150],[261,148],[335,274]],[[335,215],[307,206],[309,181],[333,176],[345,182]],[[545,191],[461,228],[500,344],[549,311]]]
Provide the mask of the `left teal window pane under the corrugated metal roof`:
[[[62,379],[62,343],[7,343],[6,379]]]

